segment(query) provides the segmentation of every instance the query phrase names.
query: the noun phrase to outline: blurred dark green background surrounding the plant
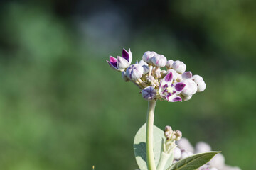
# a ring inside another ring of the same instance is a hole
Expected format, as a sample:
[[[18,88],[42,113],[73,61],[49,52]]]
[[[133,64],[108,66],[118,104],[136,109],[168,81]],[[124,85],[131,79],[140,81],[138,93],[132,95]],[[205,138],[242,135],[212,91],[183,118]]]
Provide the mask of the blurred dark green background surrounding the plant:
[[[207,84],[155,124],[256,169],[256,1],[1,1],[0,169],[137,169],[147,102],[105,60],[182,60]]]

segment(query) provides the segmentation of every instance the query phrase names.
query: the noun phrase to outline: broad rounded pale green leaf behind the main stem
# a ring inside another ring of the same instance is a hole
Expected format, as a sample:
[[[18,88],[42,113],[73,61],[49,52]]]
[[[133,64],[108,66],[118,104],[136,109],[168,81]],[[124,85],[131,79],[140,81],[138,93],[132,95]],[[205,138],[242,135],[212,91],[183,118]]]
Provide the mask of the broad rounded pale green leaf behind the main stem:
[[[161,155],[162,141],[165,142],[164,131],[154,125],[154,159],[156,166],[159,163]],[[134,137],[134,154],[140,170],[147,170],[146,167],[146,123],[139,128]],[[171,162],[167,162],[165,169],[171,166]]]

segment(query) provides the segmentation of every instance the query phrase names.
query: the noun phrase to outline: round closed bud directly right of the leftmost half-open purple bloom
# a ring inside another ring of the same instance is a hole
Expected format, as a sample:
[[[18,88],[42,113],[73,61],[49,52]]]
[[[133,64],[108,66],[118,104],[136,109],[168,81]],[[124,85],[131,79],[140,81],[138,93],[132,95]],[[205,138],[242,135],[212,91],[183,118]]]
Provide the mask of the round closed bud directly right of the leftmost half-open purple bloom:
[[[127,77],[129,77],[129,79],[131,80],[136,80],[141,78],[143,72],[144,72],[144,69],[140,64],[132,64],[126,70]]]

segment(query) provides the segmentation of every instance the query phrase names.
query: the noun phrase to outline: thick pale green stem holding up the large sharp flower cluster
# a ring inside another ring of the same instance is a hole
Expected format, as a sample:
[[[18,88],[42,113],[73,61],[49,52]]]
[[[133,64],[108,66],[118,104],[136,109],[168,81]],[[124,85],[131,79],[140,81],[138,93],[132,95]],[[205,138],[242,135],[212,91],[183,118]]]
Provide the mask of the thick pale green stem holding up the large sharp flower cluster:
[[[148,112],[146,116],[146,162],[148,170],[156,170],[154,162],[154,149],[153,149],[153,128],[154,128],[154,109],[156,101],[149,101]]]

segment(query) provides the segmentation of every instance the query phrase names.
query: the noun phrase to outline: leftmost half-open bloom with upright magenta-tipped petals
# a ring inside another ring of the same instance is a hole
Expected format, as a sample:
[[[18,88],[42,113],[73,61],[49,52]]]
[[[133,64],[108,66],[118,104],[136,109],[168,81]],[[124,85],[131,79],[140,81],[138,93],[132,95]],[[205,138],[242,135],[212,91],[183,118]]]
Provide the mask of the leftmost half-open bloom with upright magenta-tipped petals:
[[[122,50],[122,57],[117,56],[117,58],[114,58],[110,56],[110,61],[107,61],[110,65],[110,67],[114,70],[123,72],[124,69],[129,67],[129,65],[132,63],[132,52],[129,49],[129,52],[127,50]]]

